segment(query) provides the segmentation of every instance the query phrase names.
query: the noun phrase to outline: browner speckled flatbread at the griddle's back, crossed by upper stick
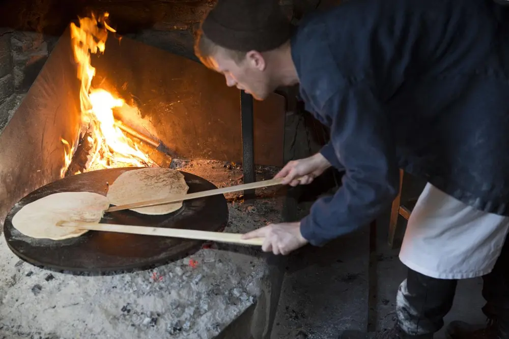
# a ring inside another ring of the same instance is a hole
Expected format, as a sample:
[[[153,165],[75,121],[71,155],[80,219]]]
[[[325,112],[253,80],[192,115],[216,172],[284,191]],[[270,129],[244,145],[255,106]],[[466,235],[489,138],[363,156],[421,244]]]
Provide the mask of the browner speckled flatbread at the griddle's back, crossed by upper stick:
[[[142,168],[122,173],[111,184],[107,197],[112,205],[125,205],[134,202],[167,198],[187,193],[184,175],[169,168]],[[142,214],[167,214],[182,207],[182,202],[171,204],[130,208]]]

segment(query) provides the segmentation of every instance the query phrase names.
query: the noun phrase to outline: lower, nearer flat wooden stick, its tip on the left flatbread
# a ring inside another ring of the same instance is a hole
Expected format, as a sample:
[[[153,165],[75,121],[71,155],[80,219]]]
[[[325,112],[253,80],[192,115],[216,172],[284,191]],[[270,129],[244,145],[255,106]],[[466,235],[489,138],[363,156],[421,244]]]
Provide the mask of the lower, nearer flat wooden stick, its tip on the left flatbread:
[[[210,232],[210,231],[196,231],[186,230],[179,228],[163,228],[163,227],[145,227],[145,226],[131,226],[131,225],[116,225],[116,224],[101,224],[101,223],[84,223],[84,222],[66,222],[61,221],[57,226],[73,227],[91,231],[104,231],[104,232],[117,232],[117,233],[131,233],[142,235],[157,235],[174,238],[208,240],[217,242],[230,242],[244,245],[258,245],[263,244],[264,238],[241,239],[242,234],[237,233],[223,233],[223,232]]]

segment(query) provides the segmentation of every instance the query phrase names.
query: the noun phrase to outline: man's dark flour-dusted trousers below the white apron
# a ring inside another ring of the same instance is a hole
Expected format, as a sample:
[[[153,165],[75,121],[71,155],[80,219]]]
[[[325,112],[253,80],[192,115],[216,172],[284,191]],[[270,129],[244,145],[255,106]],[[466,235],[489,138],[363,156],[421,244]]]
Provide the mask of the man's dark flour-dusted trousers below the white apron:
[[[453,306],[457,280],[443,280],[408,270],[407,279],[397,295],[400,327],[412,335],[435,333],[444,325],[443,318]],[[484,314],[503,324],[509,323],[509,241],[493,270],[483,276]],[[505,327],[505,326],[504,326]]]

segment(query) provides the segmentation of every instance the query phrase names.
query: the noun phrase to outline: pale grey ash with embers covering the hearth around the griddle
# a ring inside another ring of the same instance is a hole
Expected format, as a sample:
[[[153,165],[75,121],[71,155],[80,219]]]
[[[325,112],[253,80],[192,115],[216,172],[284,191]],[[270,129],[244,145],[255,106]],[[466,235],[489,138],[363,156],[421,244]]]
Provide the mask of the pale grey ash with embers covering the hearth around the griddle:
[[[229,186],[241,174],[222,163],[191,163],[207,173],[183,170],[216,186]],[[262,198],[251,204],[229,197],[225,232],[279,221],[273,192],[257,193]],[[5,238],[0,241],[0,338],[213,338],[256,302],[267,274],[260,249],[252,246],[220,244],[149,270],[74,275],[20,261]]]

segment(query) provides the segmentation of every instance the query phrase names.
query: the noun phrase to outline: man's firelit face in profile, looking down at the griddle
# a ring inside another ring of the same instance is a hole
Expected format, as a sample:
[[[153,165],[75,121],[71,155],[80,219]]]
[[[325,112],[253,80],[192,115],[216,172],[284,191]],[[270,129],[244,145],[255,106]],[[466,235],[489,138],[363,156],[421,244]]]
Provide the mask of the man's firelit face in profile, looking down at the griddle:
[[[220,49],[209,57],[210,66],[224,75],[229,87],[237,87],[249,93],[256,100],[265,100],[271,88],[269,72],[263,56],[256,51],[246,53],[240,63],[236,63],[226,51]]]

